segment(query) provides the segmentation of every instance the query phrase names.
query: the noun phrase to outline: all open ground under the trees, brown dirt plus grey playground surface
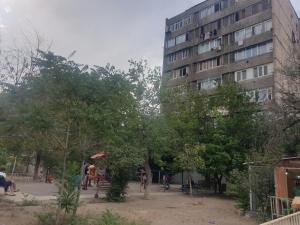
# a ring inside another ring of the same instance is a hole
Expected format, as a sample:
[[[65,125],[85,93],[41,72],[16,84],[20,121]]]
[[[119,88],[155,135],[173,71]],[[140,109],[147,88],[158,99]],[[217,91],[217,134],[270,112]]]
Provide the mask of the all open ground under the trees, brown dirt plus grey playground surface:
[[[19,187],[22,191],[16,196],[0,196],[1,225],[35,224],[35,214],[55,209],[55,205],[51,204],[57,192],[54,184],[24,182],[19,183]],[[232,200],[216,196],[190,197],[174,185],[167,192],[159,185],[152,185],[150,200],[144,200],[139,184],[130,183],[127,201],[119,204],[95,199],[94,191],[94,188],[89,188],[82,192],[79,214],[98,216],[110,210],[122,217],[151,225],[256,224],[252,219],[241,217]],[[104,197],[103,193],[100,193],[101,196]]]

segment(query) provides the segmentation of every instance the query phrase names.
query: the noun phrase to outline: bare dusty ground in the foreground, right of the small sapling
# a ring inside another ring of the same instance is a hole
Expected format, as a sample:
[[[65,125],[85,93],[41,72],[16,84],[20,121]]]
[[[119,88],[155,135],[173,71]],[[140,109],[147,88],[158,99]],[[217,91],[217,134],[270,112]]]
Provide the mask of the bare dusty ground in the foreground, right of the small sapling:
[[[95,215],[107,209],[126,218],[150,222],[151,225],[256,224],[254,220],[240,217],[231,200],[191,198],[182,194],[153,196],[151,200],[135,196],[123,204],[89,204],[82,207],[80,213]]]

